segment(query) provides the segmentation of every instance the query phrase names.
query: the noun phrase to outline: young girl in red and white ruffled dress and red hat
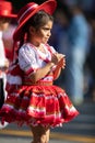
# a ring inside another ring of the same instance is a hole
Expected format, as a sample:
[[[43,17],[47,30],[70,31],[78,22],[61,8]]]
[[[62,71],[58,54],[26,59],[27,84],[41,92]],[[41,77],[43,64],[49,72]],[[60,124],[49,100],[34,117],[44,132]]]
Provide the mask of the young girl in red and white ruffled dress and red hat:
[[[66,66],[64,56],[47,44],[56,6],[55,0],[40,6],[31,2],[19,12],[13,35],[19,46],[8,74],[8,98],[0,112],[2,121],[27,124],[33,143],[48,143],[50,128],[79,114],[66,91],[52,85]]]

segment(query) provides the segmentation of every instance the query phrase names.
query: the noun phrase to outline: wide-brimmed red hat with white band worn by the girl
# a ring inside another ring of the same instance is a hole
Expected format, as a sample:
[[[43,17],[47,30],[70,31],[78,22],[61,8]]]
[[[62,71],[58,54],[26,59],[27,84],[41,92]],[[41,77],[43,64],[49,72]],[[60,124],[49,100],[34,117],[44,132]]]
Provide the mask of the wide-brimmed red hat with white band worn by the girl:
[[[23,7],[17,14],[19,25],[13,34],[13,40],[20,40],[22,34],[22,28],[35,13],[37,13],[39,10],[44,10],[45,12],[52,14],[56,7],[56,0],[47,0],[46,2],[39,6],[35,2],[29,2],[25,7]]]

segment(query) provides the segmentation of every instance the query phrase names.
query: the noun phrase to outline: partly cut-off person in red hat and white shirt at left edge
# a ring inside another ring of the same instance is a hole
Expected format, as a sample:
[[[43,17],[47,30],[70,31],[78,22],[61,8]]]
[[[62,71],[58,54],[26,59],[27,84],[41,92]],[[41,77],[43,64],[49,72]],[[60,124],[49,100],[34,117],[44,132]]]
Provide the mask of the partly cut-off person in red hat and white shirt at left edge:
[[[0,0],[0,108],[2,107],[5,98],[5,82],[7,82],[7,69],[9,67],[9,59],[5,57],[4,44],[2,40],[2,34],[10,24],[10,20],[16,18],[16,14],[12,14],[12,3],[9,1]],[[0,129],[4,128],[8,123],[3,125],[0,123]]]

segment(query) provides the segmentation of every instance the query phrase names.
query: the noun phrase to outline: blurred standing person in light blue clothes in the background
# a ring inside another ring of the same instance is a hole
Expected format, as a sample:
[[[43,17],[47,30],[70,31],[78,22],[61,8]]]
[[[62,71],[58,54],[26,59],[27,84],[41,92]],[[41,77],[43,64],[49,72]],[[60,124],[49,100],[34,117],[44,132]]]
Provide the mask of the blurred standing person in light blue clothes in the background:
[[[84,100],[84,63],[90,52],[91,26],[80,6],[70,7],[69,47],[66,67],[66,90],[75,105]]]

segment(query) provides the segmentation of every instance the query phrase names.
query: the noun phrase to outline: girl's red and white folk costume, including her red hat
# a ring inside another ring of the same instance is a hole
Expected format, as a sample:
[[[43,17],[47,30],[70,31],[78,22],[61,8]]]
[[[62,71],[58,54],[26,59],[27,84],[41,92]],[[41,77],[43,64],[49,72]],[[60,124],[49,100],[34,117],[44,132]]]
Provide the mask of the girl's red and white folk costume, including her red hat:
[[[14,32],[14,40],[19,41],[22,26],[37,11],[45,10],[52,14],[55,9],[55,0],[48,0],[40,6],[34,2],[25,6],[19,14],[20,24]],[[36,82],[29,78],[31,74],[49,63],[51,55],[56,53],[55,48],[48,44],[41,44],[41,46],[45,53],[27,42],[20,47],[16,64],[14,62],[8,73],[8,97],[0,111],[2,122],[16,122],[19,125],[41,124],[54,128],[69,122],[79,114],[66,91],[54,85],[52,73],[56,66]]]

